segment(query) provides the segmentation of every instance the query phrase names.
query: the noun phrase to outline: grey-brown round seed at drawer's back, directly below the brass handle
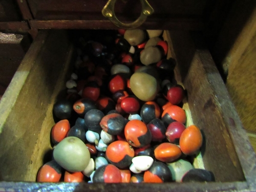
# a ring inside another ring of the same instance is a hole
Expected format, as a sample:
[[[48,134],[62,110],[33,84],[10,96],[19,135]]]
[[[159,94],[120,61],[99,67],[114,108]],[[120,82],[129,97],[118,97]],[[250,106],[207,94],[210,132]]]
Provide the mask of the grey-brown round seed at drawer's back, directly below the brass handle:
[[[126,30],[123,36],[131,46],[137,46],[141,44],[145,38],[145,32],[141,29]]]

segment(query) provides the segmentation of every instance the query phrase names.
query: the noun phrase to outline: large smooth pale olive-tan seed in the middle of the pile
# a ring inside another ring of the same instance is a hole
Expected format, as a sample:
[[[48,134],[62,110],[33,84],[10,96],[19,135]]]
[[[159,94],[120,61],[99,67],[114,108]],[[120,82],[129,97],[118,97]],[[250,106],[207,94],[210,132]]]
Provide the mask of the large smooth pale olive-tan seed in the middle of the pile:
[[[146,73],[134,73],[130,78],[130,87],[142,101],[154,100],[159,89],[156,78]]]

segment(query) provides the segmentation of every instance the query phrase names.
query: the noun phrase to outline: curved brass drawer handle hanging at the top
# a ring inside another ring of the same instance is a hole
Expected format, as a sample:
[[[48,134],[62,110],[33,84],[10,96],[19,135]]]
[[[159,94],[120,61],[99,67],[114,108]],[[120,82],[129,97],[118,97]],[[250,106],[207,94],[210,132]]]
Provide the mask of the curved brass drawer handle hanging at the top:
[[[133,23],[125,24],[120,22],[115,15],[114,7],[116,0],[109,0],[108,3],[102,9],[102,14],[105,17],[108,17],[112,23],[114,23],[117,27],[122,29],[133,29],[139,27],[143,24],[146,20],[148,15],[151,15],[154,12],[154,9],[151,7],[150,4],[147,3],[146,0],[140,0],[142,5],[142,10],[139,18],[135,20]]]

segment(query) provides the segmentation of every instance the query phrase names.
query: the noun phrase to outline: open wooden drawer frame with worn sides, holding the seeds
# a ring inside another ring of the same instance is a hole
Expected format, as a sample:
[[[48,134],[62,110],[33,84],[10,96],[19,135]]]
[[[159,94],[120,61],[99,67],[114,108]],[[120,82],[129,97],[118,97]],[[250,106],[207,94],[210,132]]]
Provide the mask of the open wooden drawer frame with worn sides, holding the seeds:
[[[165,31],[168,57],[187,90],[186,113],[204,136],[202,162],[211,183],[34,183],[51,154],[53,104],[70,76],[74,52],[67,31],[40,31],[0,101],[0,190],[255,191],[256,157],[200,34]],[[32,182],[31,182],[32,181]]]

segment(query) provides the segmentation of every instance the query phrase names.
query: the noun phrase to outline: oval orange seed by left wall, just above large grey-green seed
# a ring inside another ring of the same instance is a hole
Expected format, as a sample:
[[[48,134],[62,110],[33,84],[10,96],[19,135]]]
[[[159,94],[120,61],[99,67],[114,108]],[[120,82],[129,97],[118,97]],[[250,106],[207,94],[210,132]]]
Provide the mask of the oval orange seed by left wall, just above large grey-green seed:
[[[67,119],[58,121],[51,130],[51,139],[53,144],[58,144],[62,139],[67,136],[70,130],[70,124]]]

